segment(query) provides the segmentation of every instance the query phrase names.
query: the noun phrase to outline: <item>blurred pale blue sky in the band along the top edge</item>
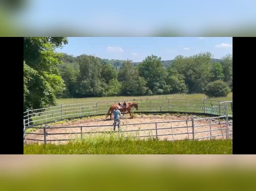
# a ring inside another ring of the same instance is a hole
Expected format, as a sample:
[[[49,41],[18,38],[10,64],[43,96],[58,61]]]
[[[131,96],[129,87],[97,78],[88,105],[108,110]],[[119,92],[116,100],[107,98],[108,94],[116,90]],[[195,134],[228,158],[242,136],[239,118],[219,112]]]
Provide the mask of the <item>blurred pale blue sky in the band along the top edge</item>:
[[[17,14],[33,28],[63,26],[77,31],[147,34],[161,28],[198,34],[212,27],[225,30],[256,19],[255,0],[27,0]],[[218,28],[220,27],[220,28]],[[193,35],[194,36],[194,35]]]

